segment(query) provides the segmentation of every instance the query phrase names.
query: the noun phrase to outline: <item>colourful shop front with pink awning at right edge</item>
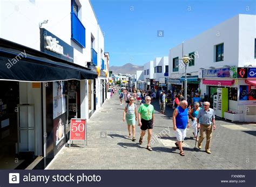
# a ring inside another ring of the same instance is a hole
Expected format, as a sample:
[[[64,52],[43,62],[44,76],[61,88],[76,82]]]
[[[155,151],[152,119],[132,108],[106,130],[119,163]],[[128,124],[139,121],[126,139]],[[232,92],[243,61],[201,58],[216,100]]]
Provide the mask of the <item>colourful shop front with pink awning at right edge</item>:
[[[207,97],[215,114],[221,111],[217,117],[255,122],[255,74],[256,68],[253,67],[202,70],[201,97]]]

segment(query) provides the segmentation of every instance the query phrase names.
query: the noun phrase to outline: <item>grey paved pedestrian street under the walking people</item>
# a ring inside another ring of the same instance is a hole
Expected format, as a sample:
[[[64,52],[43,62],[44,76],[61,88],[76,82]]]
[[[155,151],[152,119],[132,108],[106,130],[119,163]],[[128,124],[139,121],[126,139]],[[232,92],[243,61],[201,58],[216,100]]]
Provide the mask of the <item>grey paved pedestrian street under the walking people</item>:
[[[152,149],[146,149],[146,137],[139,145],[140,128],[136,124],[136,141],[128,138],[127,125],[122,115],[124,104],[118,96],[106,100],[90,118],[87,127],[87,146],[77,141],[76,145],[64,147],[46,169],[256,169],[255,136],[256,124],[231,123],[217,120],[213,133],[212,154],[203,148],[194,150],[192,130],[187,130],[184,141],[185,156],[179,155],[174,142],[172,112],[159,113],[158,100],[153,100],[155,123]],[[65,163],[65,164],[64,164]]]

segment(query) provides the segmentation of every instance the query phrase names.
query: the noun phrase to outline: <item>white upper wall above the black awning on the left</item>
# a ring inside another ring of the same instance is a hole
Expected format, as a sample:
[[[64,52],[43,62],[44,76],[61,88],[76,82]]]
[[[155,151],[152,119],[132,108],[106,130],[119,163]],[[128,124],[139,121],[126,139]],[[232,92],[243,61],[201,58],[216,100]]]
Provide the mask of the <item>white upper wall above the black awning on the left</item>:
[[[48,19],[42,28],[55,34],[58,38],[74,47],[74,62],[85,66],[91,61],[91,33],[95,37],[95,51],[98,53],[98,65],[101,63],[100,49],[104,53],[104,37],[98,25],[97,18],[89,0],[78,1],[80,6],[78,17],[85,26],[85,48],[71,40],[71,1],[70,0],[37,0],[1,1],[2,9],[0,23],[0,38],[14,41],[18,44],[40,51],[40,31],[38,23]]]

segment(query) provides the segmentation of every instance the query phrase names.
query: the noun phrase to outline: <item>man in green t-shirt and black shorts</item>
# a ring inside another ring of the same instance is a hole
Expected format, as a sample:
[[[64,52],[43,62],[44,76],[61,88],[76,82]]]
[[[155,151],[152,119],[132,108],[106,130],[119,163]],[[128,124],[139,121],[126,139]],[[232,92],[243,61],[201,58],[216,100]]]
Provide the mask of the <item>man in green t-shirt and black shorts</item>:
[[[140,133],[139,144],[143,143],[143,136],[147,130],[147,150],[152,151],[150,146],[150,139],[152,135],[153,123],[154,123],[154,106],[151,105],[151,97],[146,96],[145,104],[140,105],[139,107],[139,126],[142,132]]]

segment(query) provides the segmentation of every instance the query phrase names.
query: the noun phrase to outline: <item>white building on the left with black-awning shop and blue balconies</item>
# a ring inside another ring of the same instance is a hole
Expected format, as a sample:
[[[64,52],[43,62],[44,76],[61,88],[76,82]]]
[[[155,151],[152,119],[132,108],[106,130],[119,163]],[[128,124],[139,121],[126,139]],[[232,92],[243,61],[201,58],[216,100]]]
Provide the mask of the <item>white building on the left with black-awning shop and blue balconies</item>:
[[[33,126],[31,131],[14,134],[17,152],[10,154],[33,152],[53,157],[68,140],[70,118],[89,120],[93,111],[106,99],[107,64],[103,60],[102,30],[89,0],[10,0],[1,1],[1,7],[0,43],[5,47],[2,48],[4,57],[14,56],[9,59],[11,62],[19,56],[19,63],[6,63],[6,67],[0,68],[0,85],[6,88],[1,92],[5,94],[8,88],[19,98],[16,104],[30,104],[19,106],[24,109],[19,123],[27,124],[26,128]],[[14,50],[8,51],[12,47]],[[6,69],[9,69],[9,74],[6,74]],[[55,84],[58,87],[56,92]],[[57,100],[54,100],[55,93]],[[4,98],[1,99],[0,104],[9,105]],[[58,99],[62,103],[62,111],[55,114]],[[33,115],[29,106],[34,110]],[[49,115],[53,116],[52,121],[49,121]],[[64,124],[61,127],[63,139],[59,141],[55,134],[60,133],[60,128],[55,117],[62,119]],[[16,117],[0,119],[6,129],[17,128],[16,121]]]

